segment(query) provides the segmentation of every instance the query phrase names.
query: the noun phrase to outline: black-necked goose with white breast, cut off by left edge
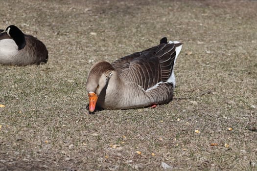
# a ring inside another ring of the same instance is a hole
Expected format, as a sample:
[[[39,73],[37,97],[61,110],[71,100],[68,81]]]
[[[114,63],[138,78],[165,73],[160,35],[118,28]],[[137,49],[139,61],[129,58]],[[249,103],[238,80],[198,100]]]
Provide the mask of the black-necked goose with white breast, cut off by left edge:
[[[37,38],[24,34],[15,25],[0,31],[0,64],[25,66],[47,63],[47,48]]]

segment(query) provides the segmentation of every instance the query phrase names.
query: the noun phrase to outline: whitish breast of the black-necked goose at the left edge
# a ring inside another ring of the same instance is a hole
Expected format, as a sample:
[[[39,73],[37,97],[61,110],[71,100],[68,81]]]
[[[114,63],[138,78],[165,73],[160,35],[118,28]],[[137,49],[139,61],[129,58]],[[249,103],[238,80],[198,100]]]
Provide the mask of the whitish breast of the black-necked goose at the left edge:
[[[0,63],[8,63],[18,53],[18,46],[12,39],[0,40]]]

